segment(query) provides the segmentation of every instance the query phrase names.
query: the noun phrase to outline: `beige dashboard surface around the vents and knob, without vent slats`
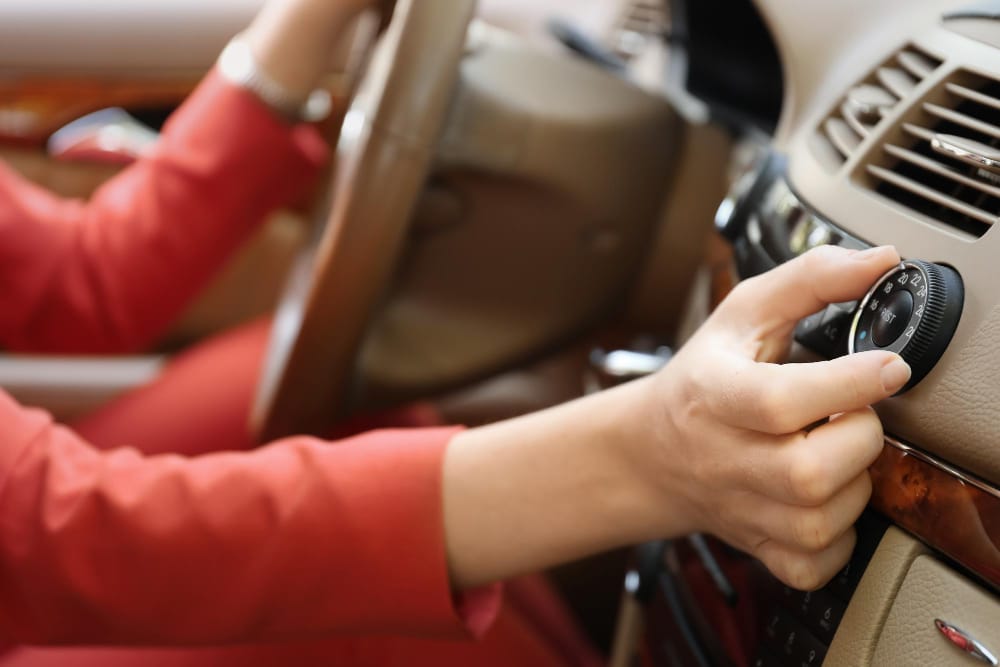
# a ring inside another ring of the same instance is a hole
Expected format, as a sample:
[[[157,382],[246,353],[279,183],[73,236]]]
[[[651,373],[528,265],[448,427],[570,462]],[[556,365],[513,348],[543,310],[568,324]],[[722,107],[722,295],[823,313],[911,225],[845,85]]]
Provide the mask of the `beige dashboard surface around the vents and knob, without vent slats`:
[[[797,194],[835,225],[872,244],[894,244],[904,257],[955,267],[966,287],[964,312],[944,357],[905,396],[879,407],[887,431],[945,460],[1000,482],[1000,290],[995,288],[1000,237],[976,238],[880,196],[868,165],[884,159],[884,145],[901,141],[900,126],[923,103],[946,104],[944,86],[973,71],[1000,78],[1000,22],[942,20],[969,6],[942,0],[819,3],[759,0],[786,68],[786,99],[776,136],[787,152]],[[842,164],[817,149],[817,133],[846,91],[872,76],[901,49],[940,61],[863,137]],[[995,212],[994,212],[995,213]]]

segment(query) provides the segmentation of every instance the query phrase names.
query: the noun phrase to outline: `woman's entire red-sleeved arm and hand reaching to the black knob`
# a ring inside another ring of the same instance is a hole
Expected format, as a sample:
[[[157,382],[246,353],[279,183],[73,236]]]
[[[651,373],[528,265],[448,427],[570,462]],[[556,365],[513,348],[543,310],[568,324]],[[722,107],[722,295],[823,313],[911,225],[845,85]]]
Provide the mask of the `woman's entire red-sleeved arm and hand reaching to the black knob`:
[[[898,261],[810,252],[742,283],[657,375],[457,434],[143,456],[0,393],[0,638],[477,633],[497,603],[482,584],[695,531],[816,588],[870,494],[868,406],[909,369],[885,352],[776,362],[801,316]]]

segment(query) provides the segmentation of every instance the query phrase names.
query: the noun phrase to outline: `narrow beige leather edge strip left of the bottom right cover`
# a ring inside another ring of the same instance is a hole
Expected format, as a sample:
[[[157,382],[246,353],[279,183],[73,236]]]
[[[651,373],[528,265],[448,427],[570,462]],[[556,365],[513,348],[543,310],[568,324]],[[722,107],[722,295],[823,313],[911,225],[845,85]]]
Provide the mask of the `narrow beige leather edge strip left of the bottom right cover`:
[[[873,663],[872,656],[882,626],[910,565],[925,552],[920,542],[898,528],[886,531],[844,613],[824,667],[881,665]]]

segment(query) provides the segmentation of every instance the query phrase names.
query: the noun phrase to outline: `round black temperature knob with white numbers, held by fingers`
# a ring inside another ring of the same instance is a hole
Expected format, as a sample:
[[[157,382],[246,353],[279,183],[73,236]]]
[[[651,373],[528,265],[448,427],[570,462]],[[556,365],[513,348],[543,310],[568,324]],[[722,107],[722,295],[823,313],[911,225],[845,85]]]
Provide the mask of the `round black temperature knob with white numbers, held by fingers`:
[[[913,371],[899,393],[911,389],[937,363],[958,327],[965,301],[954,269],[908,260],[879,279],[854,315],[848,352],[888,350]]]

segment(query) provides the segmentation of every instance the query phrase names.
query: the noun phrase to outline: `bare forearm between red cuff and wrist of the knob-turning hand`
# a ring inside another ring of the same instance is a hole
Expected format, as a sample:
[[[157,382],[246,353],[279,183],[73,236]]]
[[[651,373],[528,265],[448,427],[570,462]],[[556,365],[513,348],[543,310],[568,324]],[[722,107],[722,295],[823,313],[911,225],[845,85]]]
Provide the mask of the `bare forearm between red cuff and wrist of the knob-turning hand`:
[[[457,587],[687,530],[683,508],[642,482],[630,453],[648,438],[644,384],[455,436],[444,516]]]

